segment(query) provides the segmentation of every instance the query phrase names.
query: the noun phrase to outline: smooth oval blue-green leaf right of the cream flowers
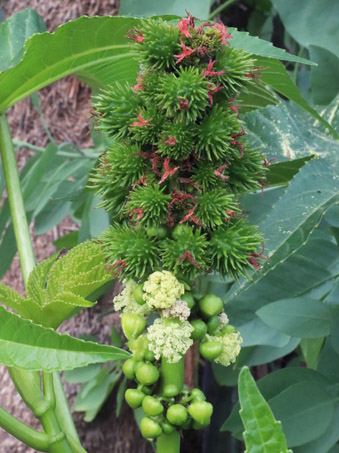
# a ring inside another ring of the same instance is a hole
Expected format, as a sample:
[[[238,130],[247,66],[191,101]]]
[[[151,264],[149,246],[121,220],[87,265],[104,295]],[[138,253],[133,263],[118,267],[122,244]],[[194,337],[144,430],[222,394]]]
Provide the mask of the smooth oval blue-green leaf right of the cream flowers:
[[[330,333],[329,307],[308,297],[278,300],[256,314],[265,324],[295,337],[319,338]]]

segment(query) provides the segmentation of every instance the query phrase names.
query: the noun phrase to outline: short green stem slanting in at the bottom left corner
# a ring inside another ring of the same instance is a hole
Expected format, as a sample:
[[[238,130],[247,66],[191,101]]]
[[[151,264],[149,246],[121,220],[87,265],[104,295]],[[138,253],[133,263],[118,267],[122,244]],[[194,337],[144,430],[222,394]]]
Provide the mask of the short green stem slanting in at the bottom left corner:
[[[13,415],[0,408],[0,426],[9,434],[37,451],[48,451],[50,438],[17,420]]]

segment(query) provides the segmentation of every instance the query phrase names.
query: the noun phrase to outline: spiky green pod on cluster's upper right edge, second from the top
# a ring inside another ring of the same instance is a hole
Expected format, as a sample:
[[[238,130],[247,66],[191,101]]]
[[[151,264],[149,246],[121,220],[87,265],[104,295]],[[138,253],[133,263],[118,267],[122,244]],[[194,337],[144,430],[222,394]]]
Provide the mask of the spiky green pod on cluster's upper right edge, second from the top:
[[[255,60],[244,50],[233,49],[230,46],[223,48],[215,63],[215,71],[224,71],[223,75],[216,76],[224,89],[221,91],[227,99],[239,94],[253,81],[255,75]]]

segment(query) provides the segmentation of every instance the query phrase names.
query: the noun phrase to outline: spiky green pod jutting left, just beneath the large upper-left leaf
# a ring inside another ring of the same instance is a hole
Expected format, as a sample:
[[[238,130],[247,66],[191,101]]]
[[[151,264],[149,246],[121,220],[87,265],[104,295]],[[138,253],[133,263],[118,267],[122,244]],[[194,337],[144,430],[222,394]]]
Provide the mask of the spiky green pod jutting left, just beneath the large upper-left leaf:
[[[100,91],[93,100],[98,127],[109,137],[123,137],[136,117],[141,99],[133,88],[116,83]]]

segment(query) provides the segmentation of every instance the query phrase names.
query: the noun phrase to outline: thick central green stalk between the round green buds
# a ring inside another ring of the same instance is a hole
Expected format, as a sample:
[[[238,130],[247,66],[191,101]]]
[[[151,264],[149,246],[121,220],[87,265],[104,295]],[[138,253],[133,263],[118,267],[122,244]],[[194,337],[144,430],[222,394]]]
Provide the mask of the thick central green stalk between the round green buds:
[[[160,393],[165,385],[174,384],[181,391],[184,385],[184,358],[177,363],[168,363],[162,358],[160,366]],[[180,434],[162,434],[157,440],[157,453],[180,453]]]

